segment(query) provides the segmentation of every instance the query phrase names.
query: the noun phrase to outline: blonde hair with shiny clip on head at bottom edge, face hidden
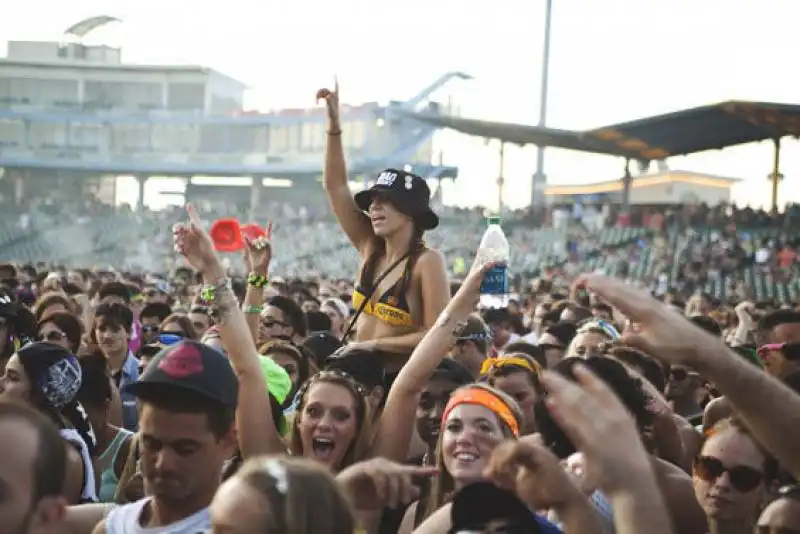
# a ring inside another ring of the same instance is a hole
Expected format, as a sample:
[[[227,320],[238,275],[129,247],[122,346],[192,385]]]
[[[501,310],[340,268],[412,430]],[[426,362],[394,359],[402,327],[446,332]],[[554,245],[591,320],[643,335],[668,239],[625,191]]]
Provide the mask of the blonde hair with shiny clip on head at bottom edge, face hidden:
[[[292,534],[353,534],[356,522],[347,497],[327,469],[285,456],[247,460],[234,479],[269,503],[258,530]]]

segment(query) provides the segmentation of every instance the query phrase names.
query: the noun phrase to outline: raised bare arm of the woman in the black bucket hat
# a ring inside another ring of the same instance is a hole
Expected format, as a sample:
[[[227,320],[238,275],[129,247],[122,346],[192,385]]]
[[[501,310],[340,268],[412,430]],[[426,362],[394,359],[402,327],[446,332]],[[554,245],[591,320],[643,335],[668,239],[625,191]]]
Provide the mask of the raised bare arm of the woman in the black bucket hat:
[[[358,249],[358,252],[364,256],[367,246],[375,234],[369,220],[361,213],[356,201],[353,200],[350,186],[347,183],[347,164],[344,160],[342,146],[342,124],[339,120],[339,82],[336,82],[333,91],[320,89],[317,92],[317,100],[320,99],[325,100],[328,108],[328,131],[322,184],[342,230]]]

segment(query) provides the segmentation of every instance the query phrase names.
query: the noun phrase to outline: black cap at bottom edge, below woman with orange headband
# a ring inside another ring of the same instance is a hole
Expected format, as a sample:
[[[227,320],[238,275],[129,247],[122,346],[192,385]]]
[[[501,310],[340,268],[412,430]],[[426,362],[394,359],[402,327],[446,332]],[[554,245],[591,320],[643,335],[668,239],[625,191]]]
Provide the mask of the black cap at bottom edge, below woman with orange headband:
[[[487,506],[491,503],[491,506]],[[475,482],[465,486],[453,499],[450,510],[450,534],[481,532],[490,523],[502,522],[503,532],[534,534],[542,532],[536,514],[510,491],[490,482]]]

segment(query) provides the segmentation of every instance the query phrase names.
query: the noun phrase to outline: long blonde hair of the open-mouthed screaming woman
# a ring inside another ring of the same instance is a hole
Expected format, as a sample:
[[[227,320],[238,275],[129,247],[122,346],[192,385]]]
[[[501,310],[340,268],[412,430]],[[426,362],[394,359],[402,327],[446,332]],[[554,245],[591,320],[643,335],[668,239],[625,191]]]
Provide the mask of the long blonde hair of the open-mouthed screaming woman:
[[[311,388],[320,383],[334,384],[343,387],[353,396],[353,400],[355,401],[356,435],[342,457],[342,463],[339,466],[339,470],[342,470],[367,458],[373,437],[372,415],[366,398],[367,391],[364,389],[364,386],[356,382],[356,380],[347,373],[341,371],[322,371],[303,384],[298,392],[299,401],[297,410],[295,411],[294,423],[289,433],[289,448],[294,454],[303,454],[303,441],[300,439],[300,424],[303,421],[303,412],[308,400],[308,392]]]

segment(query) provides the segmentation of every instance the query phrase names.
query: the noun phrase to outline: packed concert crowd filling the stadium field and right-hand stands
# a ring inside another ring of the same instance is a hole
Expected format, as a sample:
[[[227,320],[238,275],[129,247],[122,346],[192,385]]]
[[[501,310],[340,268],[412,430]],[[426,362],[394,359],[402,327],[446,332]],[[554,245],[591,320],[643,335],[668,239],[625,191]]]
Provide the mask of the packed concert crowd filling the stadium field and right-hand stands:
[[[277,270],[278,225],[237,275],[191,204],[169,269],[0,264],[4,531],[800,531],[793,209],[521,214],[536,269],[481,309],[480,223],[431,239],[402,170],[353,196],[318,97],[349,276]]]

